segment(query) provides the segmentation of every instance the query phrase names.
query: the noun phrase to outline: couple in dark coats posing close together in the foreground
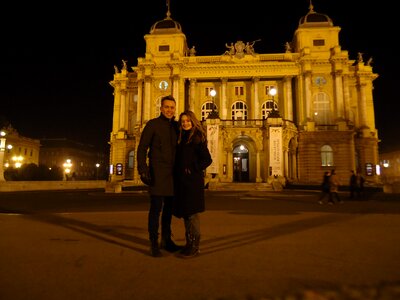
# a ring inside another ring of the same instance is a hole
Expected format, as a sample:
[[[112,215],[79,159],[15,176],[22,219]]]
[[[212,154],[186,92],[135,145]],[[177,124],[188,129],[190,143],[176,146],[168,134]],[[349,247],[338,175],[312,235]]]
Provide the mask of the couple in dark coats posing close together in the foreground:
[[[161,99],[161,114],[147,122],[137,149],[140,179],[149,186],[148,231],[150,254],[162,256],[160,249],[180,251],[183,257],[199,253],[200,219],[205,210],[204,170],[212,163],[207,135],[192,111],[184,111],[174,121],[176,102]],[[161,214],[161,243],[158,241]],[[172,216],[183,218],[186,245],[172,240]]]

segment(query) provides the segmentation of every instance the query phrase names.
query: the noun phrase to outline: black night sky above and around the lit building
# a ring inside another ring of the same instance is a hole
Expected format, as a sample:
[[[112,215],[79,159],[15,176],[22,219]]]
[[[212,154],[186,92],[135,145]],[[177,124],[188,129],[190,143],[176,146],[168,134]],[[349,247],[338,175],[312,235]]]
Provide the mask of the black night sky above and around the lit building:
[[[379,74],[374,104],[380,149],[400,149],[395,10],[361,0],[314,0],[313,5],[341,27],[340,44],[351,59],[358,52],[365,61],[373,58]],[[257,39],[257,53],[281,53],[309,1],[171,0],[170,7],[197,55],[223,54],[225,43]],[[0,121],[26,137],[107,145],[114,65],[120,69],[122,59],[129,68],[136,65],[145,53],[143,36],[165,15],[165,0],[94,2],[90,7],[83,1],[8,4],[0,18]]]

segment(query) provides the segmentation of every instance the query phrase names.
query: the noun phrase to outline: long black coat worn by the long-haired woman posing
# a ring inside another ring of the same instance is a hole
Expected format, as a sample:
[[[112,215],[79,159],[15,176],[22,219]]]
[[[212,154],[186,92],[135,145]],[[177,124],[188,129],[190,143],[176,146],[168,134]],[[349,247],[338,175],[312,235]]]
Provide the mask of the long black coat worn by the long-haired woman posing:
[[[204,170],[212,163],[207,142],[200,137],[189,144],[186,141],[184,135],[176,149],[174,215],[178,218],[205,210]]]

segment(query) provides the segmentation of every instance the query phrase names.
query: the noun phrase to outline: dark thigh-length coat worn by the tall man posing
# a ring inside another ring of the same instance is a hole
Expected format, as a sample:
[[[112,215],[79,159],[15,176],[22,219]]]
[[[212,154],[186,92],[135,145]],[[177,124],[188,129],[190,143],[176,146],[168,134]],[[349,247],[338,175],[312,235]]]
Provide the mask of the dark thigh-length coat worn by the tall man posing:
[[[143,129],[137,149],[137,163],[139,174],[150,175],[150,195],[174,195],[173,170],[177,136],[178,122],[162,114],[148,121]]]

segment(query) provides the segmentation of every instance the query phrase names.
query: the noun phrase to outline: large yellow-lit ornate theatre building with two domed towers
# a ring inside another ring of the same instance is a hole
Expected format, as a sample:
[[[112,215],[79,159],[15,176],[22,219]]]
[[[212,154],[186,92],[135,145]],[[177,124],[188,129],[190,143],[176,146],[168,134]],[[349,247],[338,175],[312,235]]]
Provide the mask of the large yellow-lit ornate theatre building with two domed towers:
[[[131,70],[127,61],[115,67],[110,181],[140,183],[140,134],[159,116],[161,98],[173,95],[176,117],[190,109],[207,127],[213,157],[207,174],[215,186],[314,184],[331,169],[344,184],[356,169],[377,183],[378,75],[370,58],[364,62],[358,53],[353,60],[341,49],[339,31],[310,6],[282,53],[259,54],[256,41],[237,41],[222,42],[219,55],[199,56],[168,10],[144,36],[145,57]]]

